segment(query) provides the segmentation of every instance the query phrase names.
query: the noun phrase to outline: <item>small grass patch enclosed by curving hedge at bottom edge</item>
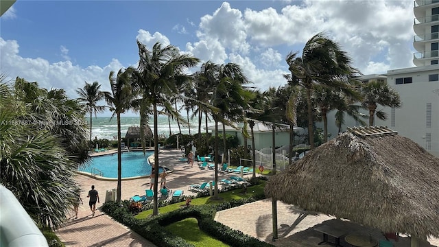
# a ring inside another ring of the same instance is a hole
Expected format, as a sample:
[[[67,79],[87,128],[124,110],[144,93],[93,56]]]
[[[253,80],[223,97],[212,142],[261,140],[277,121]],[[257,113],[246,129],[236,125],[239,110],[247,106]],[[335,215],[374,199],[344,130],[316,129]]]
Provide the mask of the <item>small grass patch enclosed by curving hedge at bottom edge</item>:
[[[197,247],[228,246],[201,231],[200,228],[198,228],[197,219],[193,217],[169,224],[169,226],[166,226],[165,228],[167,231],[182,237],[186,242]]]

